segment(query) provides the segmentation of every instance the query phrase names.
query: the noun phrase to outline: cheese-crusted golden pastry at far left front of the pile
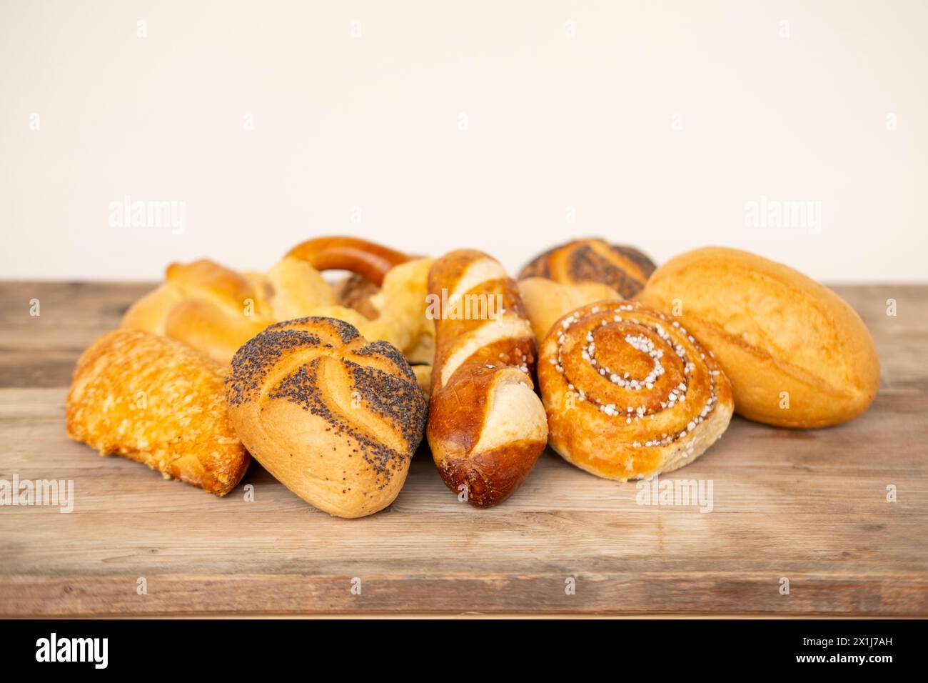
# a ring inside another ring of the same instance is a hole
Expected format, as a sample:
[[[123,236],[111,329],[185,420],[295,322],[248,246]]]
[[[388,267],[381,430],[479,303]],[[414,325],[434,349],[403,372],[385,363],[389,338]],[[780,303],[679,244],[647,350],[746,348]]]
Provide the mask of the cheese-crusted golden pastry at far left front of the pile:
[[[218,363],[160,335],[116,330],[77,361],[68,436],[225,495],[251,458],[226,414]]]

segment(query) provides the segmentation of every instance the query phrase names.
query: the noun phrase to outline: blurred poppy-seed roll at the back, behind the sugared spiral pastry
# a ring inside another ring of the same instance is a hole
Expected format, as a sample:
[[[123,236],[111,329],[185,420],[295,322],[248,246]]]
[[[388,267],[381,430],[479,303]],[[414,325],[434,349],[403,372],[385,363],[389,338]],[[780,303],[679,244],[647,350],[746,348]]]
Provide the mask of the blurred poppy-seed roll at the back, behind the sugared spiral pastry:
[[[574,240],[535,256],[519,279],[541,277],[562,284],[599,282],[619,296],[637,295],[654,271],[654,263],[638,249],[604,240]]]

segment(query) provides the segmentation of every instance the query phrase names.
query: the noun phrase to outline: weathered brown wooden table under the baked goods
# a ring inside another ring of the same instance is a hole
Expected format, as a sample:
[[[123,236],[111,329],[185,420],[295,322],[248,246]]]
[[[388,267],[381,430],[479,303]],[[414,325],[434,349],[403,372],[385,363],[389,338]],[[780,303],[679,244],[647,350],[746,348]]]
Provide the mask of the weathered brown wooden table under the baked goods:
[[[75,498],[0,507],[0,615],[928,614],[928,285],[835,288],[876,339],[876,402],[830,429],[735,418],[667,475],[711,479],[712,512],[640,506],[554,453],[477,510],[423,449],[393,506],[354,520],[257,463],[253,502],[219,499],[67,439],[74,362],[150,286],[0,283],[0,479],[72,479]]]

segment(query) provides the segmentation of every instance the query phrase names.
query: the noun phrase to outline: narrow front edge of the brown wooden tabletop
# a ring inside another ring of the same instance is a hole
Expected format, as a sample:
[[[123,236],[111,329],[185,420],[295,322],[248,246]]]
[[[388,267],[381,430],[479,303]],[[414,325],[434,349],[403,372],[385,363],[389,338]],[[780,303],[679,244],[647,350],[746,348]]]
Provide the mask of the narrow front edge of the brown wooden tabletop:
[[[578,574],[373,576],[354,594],[353,577],[154,575],[138,595],[128,576],[0,579],[0,616],[659,613],[928,615],[928,577],[793,575],[789,595],[771,576]],[[690,609],[681,611],[680,604]],[[676,609],[675,609],[676,608]]]

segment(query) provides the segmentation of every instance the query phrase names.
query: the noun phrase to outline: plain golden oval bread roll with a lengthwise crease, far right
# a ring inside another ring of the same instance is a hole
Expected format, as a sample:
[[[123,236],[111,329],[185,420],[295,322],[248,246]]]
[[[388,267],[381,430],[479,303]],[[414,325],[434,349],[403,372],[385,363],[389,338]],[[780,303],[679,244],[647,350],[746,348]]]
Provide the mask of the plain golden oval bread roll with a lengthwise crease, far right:
[[[715,352],[735,410],[778,427],[827,427],[863,413],[880,363],[844,300],[802,273],[737,249],[707,247],[668,261],[639,299]]]

